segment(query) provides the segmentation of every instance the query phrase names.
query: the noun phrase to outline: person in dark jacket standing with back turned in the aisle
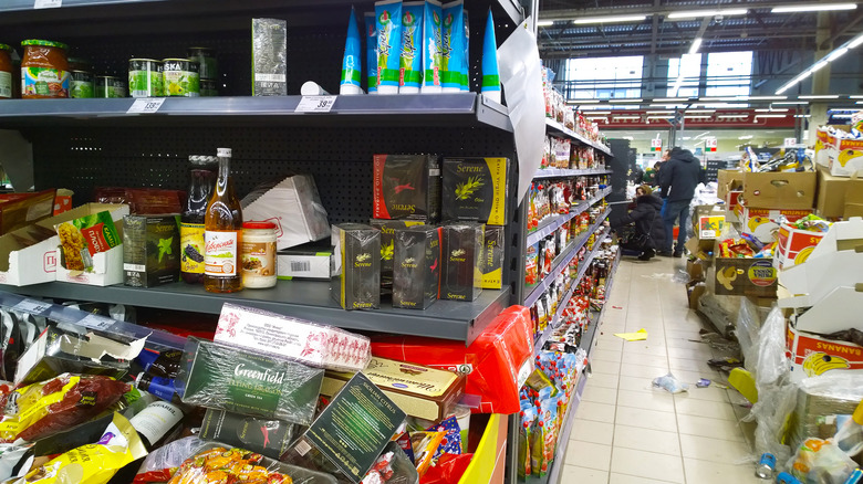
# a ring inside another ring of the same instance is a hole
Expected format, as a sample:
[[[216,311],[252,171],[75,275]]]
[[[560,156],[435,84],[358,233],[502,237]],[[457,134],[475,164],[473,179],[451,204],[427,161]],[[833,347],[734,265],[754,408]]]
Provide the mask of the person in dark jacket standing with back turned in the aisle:
[[[665,200],[663,221],[665,223],[665,246],[659,251],[661,255],[683,255],[686,243],[686,230],[689,227],[689,204],[695,196],[698,183],[705,182],[705,170],[698,158],[692,151],[675,147],[672,149],[672,158],[659,172],[661,196]],[[678,221],[677,246],[672,252],[674,242],[674,223]]]

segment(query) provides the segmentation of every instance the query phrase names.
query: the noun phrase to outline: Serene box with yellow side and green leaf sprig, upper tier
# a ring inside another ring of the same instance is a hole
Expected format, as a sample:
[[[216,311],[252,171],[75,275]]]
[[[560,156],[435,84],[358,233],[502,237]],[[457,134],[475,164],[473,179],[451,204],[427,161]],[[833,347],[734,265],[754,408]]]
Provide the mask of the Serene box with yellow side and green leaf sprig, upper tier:
[[[509,158],[444,158],[443,219],[507,224]]]

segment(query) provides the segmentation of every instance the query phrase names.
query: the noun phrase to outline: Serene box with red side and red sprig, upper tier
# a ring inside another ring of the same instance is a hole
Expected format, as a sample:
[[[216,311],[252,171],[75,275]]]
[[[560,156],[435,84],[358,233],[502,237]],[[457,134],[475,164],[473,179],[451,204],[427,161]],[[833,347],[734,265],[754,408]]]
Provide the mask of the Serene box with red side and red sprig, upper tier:
[[[440,165],[436,155],[375,155],[375,219],[440,217]]]

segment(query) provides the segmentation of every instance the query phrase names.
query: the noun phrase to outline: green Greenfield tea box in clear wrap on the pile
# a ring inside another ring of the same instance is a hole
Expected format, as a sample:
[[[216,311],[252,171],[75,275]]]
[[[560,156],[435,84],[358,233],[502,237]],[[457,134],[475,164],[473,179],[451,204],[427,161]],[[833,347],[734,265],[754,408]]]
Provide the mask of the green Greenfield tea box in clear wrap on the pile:
[[[308,425],[323,375],[273,355],[189,337],[175,385],[184,403]]]

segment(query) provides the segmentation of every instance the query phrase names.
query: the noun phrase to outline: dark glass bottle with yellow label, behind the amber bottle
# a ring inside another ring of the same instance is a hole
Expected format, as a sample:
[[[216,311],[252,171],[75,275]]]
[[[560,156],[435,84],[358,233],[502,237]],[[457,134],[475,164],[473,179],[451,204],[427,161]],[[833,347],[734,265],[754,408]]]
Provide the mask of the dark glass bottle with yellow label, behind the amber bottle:
[[[190,156],[189,196],[180,219],[180,275],[189,284],[204,282],[204,215],[216,185],[215,156]]]

